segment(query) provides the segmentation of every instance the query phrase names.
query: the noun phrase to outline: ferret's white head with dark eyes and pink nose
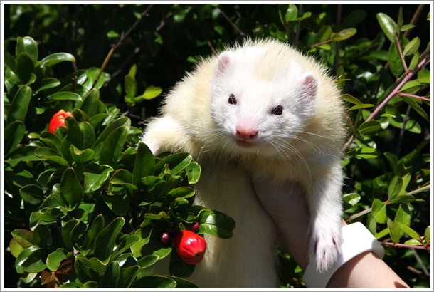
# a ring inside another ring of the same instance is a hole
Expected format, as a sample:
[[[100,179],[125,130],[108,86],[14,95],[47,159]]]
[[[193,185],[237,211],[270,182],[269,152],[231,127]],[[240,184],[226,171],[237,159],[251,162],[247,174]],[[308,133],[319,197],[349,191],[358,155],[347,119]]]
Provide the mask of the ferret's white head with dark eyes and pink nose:
[[[221,150],[235,155],[293,152],[314,115],[318,80],[295,61],[260,48],[221,53],[211,80],[211,113]]]

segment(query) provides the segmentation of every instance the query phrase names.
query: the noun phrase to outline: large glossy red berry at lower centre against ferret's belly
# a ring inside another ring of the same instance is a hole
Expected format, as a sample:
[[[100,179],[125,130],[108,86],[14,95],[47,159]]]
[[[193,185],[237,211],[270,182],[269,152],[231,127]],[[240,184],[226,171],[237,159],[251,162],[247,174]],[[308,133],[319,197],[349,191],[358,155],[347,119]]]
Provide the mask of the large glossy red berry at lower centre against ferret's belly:
[[[190,230],[181,230],[175,234],[174,246],[179,257],[187,264],[198,264],[206,251],[206,241]]]

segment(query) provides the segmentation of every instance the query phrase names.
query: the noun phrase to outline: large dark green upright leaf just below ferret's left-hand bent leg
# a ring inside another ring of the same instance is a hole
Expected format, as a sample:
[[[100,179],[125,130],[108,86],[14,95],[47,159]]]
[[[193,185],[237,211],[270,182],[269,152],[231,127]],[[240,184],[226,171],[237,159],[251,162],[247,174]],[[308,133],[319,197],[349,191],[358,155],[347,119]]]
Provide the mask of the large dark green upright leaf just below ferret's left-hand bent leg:
[[[134,170],[132,172],[132,183],[137,185],[143,177],[148,177],[154,173],[155,158],[152,151],[146,144],[139,142],[137,146]]]

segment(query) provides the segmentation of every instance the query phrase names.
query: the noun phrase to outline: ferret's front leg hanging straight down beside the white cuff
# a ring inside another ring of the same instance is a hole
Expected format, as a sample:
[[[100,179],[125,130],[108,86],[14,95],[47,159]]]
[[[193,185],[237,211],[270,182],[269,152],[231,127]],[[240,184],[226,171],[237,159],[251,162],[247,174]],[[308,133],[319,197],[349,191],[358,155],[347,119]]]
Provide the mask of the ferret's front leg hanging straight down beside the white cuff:
[[[307,192],[310,212],[310,261],[318,271],[327,271],[334,264],[342,244],[342,170],[314,174]]]

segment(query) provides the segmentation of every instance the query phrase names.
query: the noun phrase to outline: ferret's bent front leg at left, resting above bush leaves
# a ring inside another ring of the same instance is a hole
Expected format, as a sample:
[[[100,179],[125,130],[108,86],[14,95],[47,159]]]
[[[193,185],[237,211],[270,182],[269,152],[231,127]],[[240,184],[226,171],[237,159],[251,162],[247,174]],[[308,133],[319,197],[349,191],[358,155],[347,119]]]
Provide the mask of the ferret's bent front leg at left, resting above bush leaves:
[[[184,147],[189,144],[184,127],[170,116],[162,116],[149,122],[142,136],[142,142],[154,155],[165,151],[184,151]]]

